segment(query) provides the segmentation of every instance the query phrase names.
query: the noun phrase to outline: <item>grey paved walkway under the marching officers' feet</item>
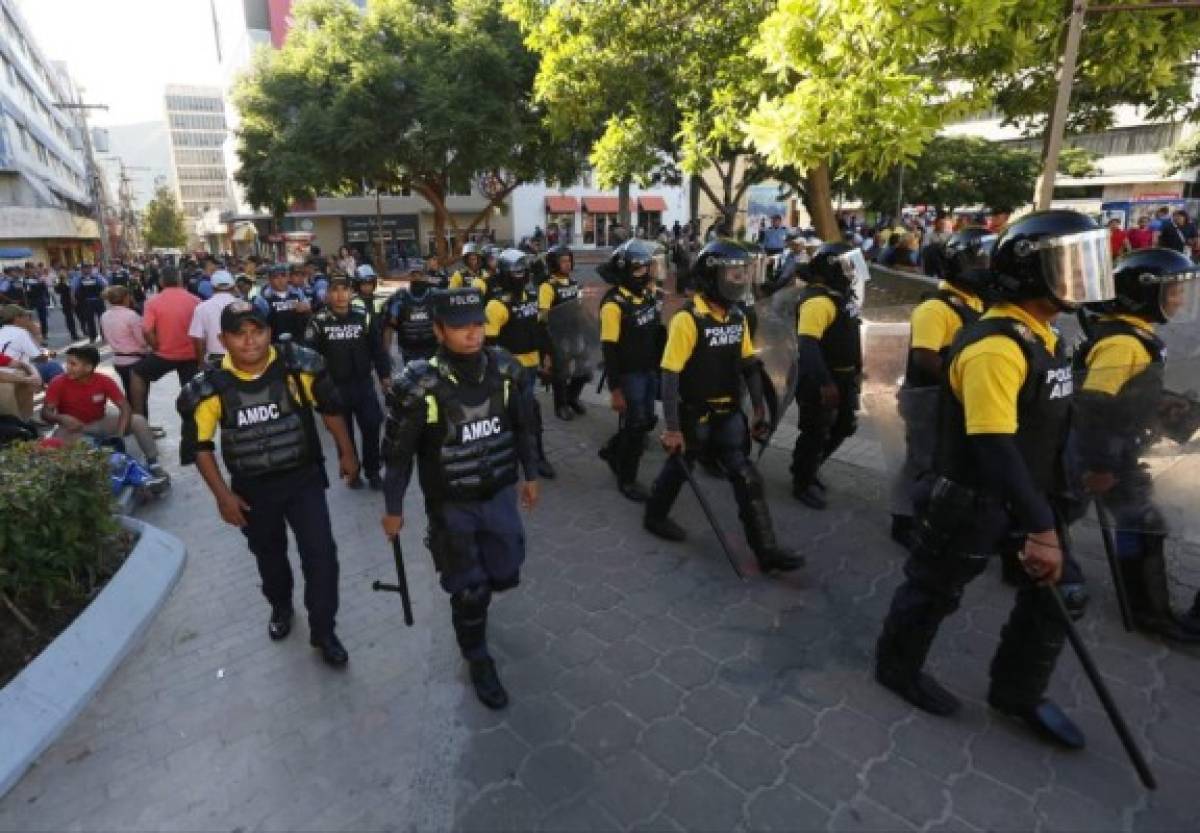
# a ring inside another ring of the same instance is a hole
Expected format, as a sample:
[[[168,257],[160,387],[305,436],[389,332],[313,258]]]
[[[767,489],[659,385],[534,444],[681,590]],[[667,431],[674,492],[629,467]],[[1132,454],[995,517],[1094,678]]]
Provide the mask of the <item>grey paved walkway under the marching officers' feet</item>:
[[[156,413],[173,394],[169,380],[155,386]],[[870,681],[901,565],[878,471],[832,463],[832,508],[812,513],[787,495],[786,455],[769,450],[781,537],[809,567],[739,582],[686,491],[676,513],[694,531],[686,544],[642,532],[595,459],[612,424],[599,407],[548,420],[560,477],[528,516],[522,586],[493,607],[514,696],[500,714],[466,689],[415,496],[403,543],[416,627],[406,629],[398,600],[370,589],[391,573],[382,501],[329,493],[352,657],[336,672],[302,624],[268,641],[240,534],[218,522],[194,472],[173,471],[170,497],[142,516],[187,543],[179,588],[140,649],[0,801],[0,829],[1200,827],[1200,663],[1121,631],[1093,531],[1076,534],[1093,589],[1084,631],[1158,774],[1152,795],[1074,658],[1052,693],[1087,751],[1050,750],[986,709],[1010,598],[994,573],[934,648],[935,671],[966,699],[960,717],[917,713]],[[858,438],[850,456],[870,463],[872,442]],[[660,461],[647,456],[643,480]],[[751,570],[727,486],[701,483]]]

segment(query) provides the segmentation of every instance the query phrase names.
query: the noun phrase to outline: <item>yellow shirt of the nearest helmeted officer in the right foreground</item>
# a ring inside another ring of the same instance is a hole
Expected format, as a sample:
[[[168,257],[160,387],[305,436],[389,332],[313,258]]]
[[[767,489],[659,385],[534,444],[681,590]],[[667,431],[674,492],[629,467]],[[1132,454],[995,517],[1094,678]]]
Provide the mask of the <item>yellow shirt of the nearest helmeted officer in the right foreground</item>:
[[[1033,331],[1051,353],[1058,337],[1015,304],[997,304],[983,319],[1013,318]],[[1008,336],[988,336],[971,344],[950,362],[949,382],[962,402],[967,435],[1016,433],[1016,397],[1028,366],[1021,348]]]

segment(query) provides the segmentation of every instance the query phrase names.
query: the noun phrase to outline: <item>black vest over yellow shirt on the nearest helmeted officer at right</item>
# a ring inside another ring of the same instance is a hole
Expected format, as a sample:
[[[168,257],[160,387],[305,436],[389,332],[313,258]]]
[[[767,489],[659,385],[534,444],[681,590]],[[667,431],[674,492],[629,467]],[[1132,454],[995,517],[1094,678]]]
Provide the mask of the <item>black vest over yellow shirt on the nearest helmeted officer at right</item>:
[[[1063,443],[1070,423],[1074,374],[1064,356],[1062,342],[1054,353],[1025,324],[1013,318],[983,318],[964,328],[950,349],[950,362],[964,349],[990,336],[1012,338],[1025,355],[1025,383],[1016,397],[1016,448],[1042,492],[1060,485]],[[967,453],[966,413],[950,390],[949,378],[942,384],[941,418],[936,451],[940,474],[955,483],[988,491],[979,481],[978,467]]]

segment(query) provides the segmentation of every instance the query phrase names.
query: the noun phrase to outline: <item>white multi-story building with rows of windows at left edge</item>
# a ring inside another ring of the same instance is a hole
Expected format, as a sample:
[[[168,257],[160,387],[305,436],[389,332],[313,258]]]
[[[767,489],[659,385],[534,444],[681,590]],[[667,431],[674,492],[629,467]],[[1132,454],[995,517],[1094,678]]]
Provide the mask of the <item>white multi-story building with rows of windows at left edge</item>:
[[[0,259],[78,263],[100,251],[103,187],[84,110],[60,64],[34,41],[13,0],[0,0]],[[23,254],[29,250],[28,254]]]

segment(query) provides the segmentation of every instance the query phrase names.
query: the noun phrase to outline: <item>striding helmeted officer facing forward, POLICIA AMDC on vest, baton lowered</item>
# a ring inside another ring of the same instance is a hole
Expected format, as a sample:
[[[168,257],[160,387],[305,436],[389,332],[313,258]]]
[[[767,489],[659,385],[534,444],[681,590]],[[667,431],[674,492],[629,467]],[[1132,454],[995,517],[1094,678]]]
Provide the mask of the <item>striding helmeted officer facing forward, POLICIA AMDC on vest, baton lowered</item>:
[[[769,433],[762,376],[742,310],[752,258],[740,244],[716,239],[701,250],[692,274],[698,292],[671,319],[662,353],[662,466],[646,502],[643,526],[659,538],[682,541],[686,533],[667,514],[685,474],[701,451],[710,451],[733,485],[746,540],[763,573],[794,570],[804,559],[775,541],[762,475],[750,462],[750,433],[739,404],[745,383],[754,408],[754,436]],[[678,459],[677,459],[678,455]]]

